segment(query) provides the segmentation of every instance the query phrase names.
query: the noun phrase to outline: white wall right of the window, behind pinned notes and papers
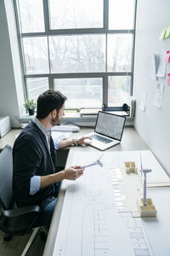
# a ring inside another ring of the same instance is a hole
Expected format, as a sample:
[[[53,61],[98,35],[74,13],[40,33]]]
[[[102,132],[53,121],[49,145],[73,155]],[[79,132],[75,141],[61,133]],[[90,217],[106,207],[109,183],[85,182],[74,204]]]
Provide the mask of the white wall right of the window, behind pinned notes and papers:
[[[149,56],[160,54],[161,49],[170,49],[170,39],[159,40],[163,27],[170,25],[169,0],[139,0],[134,61],[133,96],[137,101],[135,128],[170,174],[170,86],[166,78],[160,79],[164,86],[162,108],[152,105],[156,94],[156,81],[149,79]],[[145,112],[139,110],[139,102],[146,92]]]

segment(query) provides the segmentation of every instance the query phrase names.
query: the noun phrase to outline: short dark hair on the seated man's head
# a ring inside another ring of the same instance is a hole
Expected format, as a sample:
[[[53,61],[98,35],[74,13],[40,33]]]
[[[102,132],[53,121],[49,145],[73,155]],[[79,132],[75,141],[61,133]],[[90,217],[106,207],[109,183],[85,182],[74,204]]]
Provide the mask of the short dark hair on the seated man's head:
[[[67,97],[59,90],[46,90],[37,99],[37,119],[44,119],[48,114],[56,109],[59,111],[63,107]]]

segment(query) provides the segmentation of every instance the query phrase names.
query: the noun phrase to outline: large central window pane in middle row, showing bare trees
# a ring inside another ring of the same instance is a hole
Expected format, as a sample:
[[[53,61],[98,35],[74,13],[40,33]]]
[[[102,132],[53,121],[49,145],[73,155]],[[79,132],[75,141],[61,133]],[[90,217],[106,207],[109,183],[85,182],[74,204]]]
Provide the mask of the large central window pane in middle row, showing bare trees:
[[[52,73],[105,72],[105,36],[79,35],[49,38]]]

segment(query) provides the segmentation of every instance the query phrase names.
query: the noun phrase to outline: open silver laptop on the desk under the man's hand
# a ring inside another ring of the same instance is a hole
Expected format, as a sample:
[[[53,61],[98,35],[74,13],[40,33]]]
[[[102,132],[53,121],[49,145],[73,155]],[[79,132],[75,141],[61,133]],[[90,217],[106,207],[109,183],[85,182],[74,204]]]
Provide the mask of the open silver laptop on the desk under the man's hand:
[[[88,133],[92,138],[89,146],[105,150],[121,143],[126,117],[99,111],[94,132]]]

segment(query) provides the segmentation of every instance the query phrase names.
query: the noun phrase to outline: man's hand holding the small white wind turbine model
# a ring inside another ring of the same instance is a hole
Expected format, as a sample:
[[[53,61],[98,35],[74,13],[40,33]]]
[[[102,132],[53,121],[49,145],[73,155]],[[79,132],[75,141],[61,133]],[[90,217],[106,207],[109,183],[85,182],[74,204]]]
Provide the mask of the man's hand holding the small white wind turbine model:
[[[62,172],[64,173],[65,179],[76,180],[78,177],[82,176],[83,171],[84,168],[81,166],[71,166]]]

